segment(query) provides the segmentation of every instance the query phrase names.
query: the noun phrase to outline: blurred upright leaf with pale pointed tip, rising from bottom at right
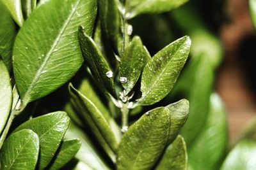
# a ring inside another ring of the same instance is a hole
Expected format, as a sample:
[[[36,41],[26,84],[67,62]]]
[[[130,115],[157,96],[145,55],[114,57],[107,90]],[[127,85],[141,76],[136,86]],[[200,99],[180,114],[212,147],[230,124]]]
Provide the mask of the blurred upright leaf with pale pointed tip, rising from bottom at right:
[[[220,96],[212,94],[204,129],[188,148],[189,169],[219,169],[227,146],[228,129],[225,106]]]

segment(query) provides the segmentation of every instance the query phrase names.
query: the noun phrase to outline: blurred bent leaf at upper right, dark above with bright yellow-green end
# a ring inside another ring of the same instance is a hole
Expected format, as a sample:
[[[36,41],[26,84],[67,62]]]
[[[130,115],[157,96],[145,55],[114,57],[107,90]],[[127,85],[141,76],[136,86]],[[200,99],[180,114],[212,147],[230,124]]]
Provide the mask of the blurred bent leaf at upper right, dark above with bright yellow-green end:
[[[170,18],[174,19],[179,29],[191,38],[193,42],[191,57],[204,53],[212,67],[216,69],[223,59],[223,45],[220,38],[209,30],[204,17],[195,11],[195,6],[186,5],[179,10],[174,10],[170,13]]]

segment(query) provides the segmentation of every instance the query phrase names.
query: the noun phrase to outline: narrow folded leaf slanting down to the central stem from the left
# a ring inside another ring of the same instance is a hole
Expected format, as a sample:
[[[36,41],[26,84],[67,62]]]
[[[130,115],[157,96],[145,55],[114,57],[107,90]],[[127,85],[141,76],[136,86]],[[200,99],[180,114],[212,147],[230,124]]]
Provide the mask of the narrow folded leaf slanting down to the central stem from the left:
[[[80,111],[83,111],[82,113],[86,120],[89,122],[91,125],[91,128],[94,129],[95,127],[97,128],[97,131],[100,132],[106,143],[108,143],[108,146],[111,148],[113,152],[116,151],[117,148],[117,140],[115,137],[114,132],[112,131],[110,125],[108,124],[108,121],[100,110],[95,106],[90,99],[88,99],[86,96],[81,94],[78,90],[74,89],[72,85],[69,85],[69,90],[72,99],[76,101],[76,105],[81,107]],[[96,130],[96,129],[95,129]]]

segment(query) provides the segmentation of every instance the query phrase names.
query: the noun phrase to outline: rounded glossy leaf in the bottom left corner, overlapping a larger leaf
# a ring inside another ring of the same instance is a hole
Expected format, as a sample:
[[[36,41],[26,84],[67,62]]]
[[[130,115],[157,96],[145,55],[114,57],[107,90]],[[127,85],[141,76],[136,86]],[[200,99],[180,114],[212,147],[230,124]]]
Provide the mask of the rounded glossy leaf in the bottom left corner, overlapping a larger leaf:
[[[35,132],[24,129],[11,134],[1,148],[1,169],[28,169],[36,167],[39,139]]]

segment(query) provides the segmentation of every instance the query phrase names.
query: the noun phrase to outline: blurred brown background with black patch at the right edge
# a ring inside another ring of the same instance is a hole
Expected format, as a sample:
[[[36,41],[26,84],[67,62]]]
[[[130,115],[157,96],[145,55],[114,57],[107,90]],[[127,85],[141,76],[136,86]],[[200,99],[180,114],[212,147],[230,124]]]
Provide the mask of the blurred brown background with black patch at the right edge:
[[[225,58],[216,78],[216,89],[227,106],[233,141],[241,127],[256,116],[256,69],[253,69],[256,31],[250,20],[247,0],[228,0],[226,8],[228,22],[221,27]]]

